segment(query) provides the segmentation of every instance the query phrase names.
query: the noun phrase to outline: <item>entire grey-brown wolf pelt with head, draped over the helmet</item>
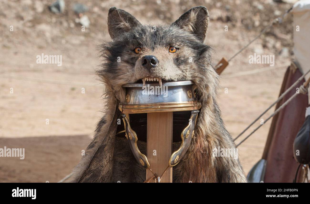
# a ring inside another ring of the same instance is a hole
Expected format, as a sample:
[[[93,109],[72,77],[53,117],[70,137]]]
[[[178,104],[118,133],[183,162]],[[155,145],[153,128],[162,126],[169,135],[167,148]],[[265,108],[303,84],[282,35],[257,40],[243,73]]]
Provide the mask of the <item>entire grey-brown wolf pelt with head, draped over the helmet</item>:
[[[212,66],[212,49],[203,43],[208,24],[209,13],[203,6],[190,9],[171,25],[156,27],[142,25],[124,10],[109,9],[108,32],[112,41],[100,45],[103,63],[97,70],[105,85],[105,115],[97,124],[85,156],[75,167],[71,182],[148,179],[145,169],[135,161],[124,134],[116,135],[117,119],[121,118],[118,105],[126,101],[122,85],[145,77],[192,80],[197,100],[201,102],[196,134],[184,158],[173,167],[173,181],[246,182],[239,159],[213,155],[214,149],[234,148],[235,144],[216,102],[219,75]],[[177,51],[170,52],[171,46]],[[146,55],[157,57],[158,65],[154,69],[141,65]],[[138,145],[141,152],[146,151],[145,142],[140,141]]]

